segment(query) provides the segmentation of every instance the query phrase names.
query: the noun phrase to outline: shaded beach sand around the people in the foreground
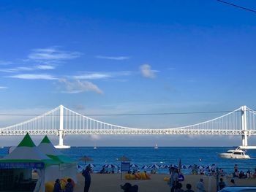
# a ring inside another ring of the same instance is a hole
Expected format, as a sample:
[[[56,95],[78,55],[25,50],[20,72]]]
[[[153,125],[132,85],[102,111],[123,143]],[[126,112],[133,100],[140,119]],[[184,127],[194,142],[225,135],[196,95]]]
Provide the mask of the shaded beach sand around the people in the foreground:
[[[90,192],[116,192],[122,191],[120,185],[124,185],[124,183],[131,183],[132,185],[139,186],[139,192],[155,192],[155,191],[170,191],[169,185],[164,181],[164,177],[169,177],[169,174],[152,174],[151,180],[125,180],[123,175],[123,180],[121,180],[120,174],[91,174],[91,188]],[[195,185],[203,178],[205,183],[205,188],[207,192],[215,192],[216,191],[216,178],[208,177],[206,175],[185,175],[184,182],[181,182],[183,185],[183,189],[186,189],[187,183],[192,185],[192,190],[196,191]],[[230,179],[223,177],[225,183],[230,185]],[[83,191],[84,186],[83,176],[78,174],[78,183],[75,185],[75,192]],[[243,186],[255,186],[256,179],[237,179],[237,185]]]

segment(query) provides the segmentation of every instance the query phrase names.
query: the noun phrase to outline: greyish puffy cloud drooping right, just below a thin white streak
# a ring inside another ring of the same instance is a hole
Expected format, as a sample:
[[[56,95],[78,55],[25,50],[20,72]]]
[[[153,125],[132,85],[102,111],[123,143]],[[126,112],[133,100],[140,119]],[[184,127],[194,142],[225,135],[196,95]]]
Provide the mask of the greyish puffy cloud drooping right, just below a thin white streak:
[[[80,81],[75,80],[73,82],[69,82],[66,79],[60,79],[59,82],[63,85],[62,93],[83,93],[86,91],[94,91],[99,94],[103,94],[103,91],[100,90],[97,85],[89,81]]]

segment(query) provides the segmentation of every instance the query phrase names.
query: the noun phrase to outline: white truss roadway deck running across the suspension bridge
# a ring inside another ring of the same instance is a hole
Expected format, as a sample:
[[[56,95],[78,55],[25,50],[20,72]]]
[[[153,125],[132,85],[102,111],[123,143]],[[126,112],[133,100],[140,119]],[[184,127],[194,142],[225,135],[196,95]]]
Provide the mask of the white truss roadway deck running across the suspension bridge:
[[[0,136],[25,135],[59,135],[57,129],[45,130],[17,130],[8,131],[0,129]],[[127,128],[127,129],[64,129],[64,135],[256,135],[256,130],[219,130],[219,129],[182,129],[182,128]]]

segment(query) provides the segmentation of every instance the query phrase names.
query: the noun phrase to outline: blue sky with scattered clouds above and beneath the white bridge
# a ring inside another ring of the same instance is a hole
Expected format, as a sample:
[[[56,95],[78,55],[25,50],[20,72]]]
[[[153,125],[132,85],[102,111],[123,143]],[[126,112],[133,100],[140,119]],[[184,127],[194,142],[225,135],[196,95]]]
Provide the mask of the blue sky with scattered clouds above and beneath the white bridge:
[[[255,1],[229,2],[256,9]],[[59,104],[83,114],[256,109],[255,18],[214,0],[1,1],[0,111],[41,113]],[[158,128],[219,115],[95,118]],[[5,126],[28,117],[0,118]],[[80,145],[74,138],[67,142]],[[237,137],[79,138],[83,145],[240,144]]]

